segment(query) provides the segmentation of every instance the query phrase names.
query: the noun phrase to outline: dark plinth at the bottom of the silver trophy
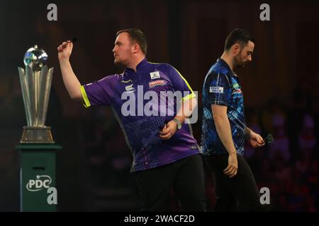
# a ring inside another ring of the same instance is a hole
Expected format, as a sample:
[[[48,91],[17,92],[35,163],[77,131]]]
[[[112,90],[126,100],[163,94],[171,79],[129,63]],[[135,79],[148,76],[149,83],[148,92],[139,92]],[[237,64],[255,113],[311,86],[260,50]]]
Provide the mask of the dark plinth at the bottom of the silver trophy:
[[[20,143],[55,143],[50,126],[23,126]]]

